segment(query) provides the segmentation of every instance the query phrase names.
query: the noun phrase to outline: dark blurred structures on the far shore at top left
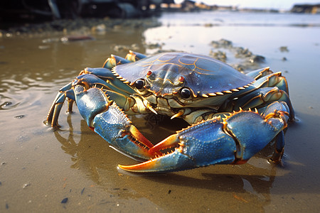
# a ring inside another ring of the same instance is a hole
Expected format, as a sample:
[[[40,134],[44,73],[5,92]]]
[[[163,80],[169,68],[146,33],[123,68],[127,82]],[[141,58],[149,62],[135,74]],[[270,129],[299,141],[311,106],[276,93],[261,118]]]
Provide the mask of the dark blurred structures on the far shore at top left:
[[[154,16],[174,0],[0,0],[0,18],[136,18]]]

